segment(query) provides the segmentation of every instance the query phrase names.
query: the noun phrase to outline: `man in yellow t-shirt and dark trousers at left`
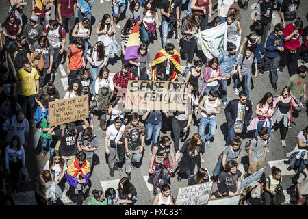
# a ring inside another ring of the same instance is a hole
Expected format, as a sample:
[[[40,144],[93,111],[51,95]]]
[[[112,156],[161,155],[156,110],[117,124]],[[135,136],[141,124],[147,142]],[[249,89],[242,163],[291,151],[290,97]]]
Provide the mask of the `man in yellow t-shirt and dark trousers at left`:
[[[23,68],[18,70],[16,82],[18,88],[18,103],[27,114],[27,120],[34,125],[34,103],[36,94],[40,88],[40,75],[36,68],[32,68],[29,60],[23,61]]]

